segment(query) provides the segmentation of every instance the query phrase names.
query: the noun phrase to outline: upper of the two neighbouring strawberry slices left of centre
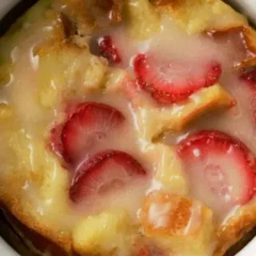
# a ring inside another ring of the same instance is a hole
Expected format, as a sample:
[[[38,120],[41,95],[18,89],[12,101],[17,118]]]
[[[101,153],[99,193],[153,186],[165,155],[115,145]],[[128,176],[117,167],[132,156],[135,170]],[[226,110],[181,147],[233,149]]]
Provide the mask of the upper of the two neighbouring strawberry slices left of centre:
[[[67,162],[89,158],[90,150],[114,132],[124,116],[112,106],[98,102],[78,105],[62,129],[63,154]]]

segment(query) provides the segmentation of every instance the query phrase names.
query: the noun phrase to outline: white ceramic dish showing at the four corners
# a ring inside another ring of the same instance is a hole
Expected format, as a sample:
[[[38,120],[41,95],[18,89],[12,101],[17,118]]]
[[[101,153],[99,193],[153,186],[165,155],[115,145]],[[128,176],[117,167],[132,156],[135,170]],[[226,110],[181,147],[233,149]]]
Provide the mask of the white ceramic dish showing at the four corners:
[[[0,0],[0,19],[18,2],[22,0]],[[256,1],[255,0],[230,0],[234,2],[243,14],[250,17],[250,20],[256,25]],[[1,225],[1,224],[0,224]],[[253,256],[256,253],[256,238],[254,238],[242,251],[236,256]],[[5,241],[0,237],[0,255],[1,256],[19,256]]]

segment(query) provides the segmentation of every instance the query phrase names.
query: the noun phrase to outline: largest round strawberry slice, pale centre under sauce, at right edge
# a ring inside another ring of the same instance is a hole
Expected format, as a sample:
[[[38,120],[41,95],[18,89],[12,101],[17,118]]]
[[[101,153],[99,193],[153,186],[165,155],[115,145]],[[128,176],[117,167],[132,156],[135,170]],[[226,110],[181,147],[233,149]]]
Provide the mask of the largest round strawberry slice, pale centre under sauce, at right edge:
[[[254,154],[220,131],[192,134],[178,145],[194,197],[216,214],[250,201],[255,191]]]

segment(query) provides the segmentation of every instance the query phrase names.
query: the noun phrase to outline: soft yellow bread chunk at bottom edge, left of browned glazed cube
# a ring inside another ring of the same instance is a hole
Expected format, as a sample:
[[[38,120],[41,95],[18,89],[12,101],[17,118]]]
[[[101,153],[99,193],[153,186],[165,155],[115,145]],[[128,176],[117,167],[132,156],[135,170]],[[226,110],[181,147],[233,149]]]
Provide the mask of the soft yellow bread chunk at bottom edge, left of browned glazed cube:
[[[90,232],[88,232],[90,230]],[[125,210],[89,216],[73,232],[74,250],[81,255],[130,255],[133,229]]]

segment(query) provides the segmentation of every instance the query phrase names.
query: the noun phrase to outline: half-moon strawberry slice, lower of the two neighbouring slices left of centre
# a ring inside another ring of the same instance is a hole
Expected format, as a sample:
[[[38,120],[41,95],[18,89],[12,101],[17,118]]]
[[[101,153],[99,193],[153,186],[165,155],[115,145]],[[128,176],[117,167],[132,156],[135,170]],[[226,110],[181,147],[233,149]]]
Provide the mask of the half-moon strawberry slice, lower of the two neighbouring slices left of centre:
[[[106,150],[78,168],[70,186],[70,198],[79,202],[88,196],[106,194],[143,176],[146,176],[146,171],[129,154]]]

